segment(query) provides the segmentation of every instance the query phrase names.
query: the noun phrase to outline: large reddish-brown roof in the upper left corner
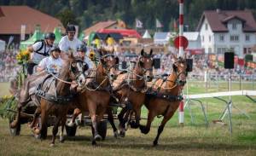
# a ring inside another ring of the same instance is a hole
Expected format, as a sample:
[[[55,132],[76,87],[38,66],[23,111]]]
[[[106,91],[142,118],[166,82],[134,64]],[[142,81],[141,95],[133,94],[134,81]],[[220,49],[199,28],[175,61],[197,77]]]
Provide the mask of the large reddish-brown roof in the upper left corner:
[[[60,20],[27,6],[0,6],[0,23],[0,34],[20,34],[21,25],[26,25],[26,34],[37,25],[43,32],[53,32],[57,26],[64,30]]]

